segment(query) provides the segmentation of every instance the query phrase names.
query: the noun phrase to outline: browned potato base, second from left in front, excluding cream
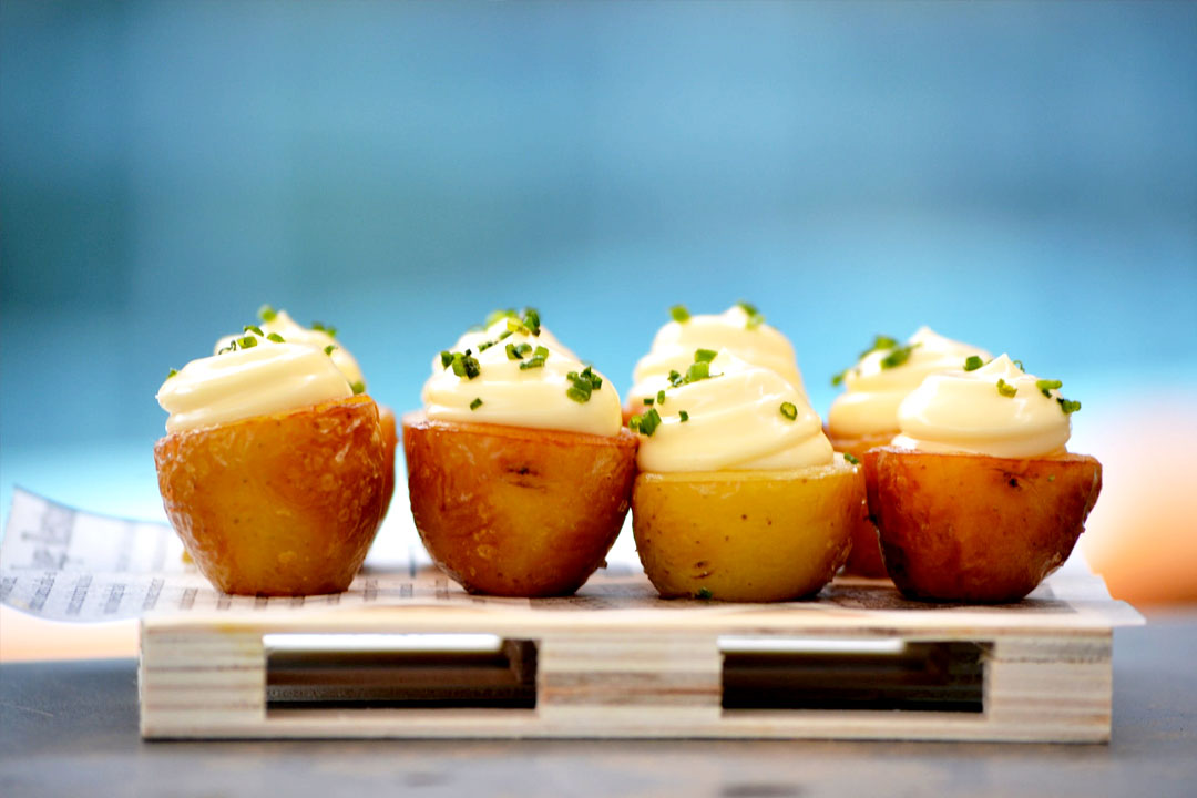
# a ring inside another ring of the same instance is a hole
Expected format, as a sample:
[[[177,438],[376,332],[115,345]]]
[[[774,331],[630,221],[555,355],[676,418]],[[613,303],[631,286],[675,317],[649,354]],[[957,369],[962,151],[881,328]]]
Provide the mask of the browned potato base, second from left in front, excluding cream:
[[[412,514],[466,590],[567,596],[603,564],[628,510],[637,438],[403,416]]]

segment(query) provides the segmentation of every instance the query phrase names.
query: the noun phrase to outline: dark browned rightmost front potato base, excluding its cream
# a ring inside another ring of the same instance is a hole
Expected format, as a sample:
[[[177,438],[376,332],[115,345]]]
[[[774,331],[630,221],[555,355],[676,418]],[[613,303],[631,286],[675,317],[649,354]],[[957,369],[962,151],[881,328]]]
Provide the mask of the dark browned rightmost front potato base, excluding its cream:
[[[1086,455],[1010,459],[894,446],[864,455],[886,568],[910,598],[1005,603],[1055,571],[1101,492]]]

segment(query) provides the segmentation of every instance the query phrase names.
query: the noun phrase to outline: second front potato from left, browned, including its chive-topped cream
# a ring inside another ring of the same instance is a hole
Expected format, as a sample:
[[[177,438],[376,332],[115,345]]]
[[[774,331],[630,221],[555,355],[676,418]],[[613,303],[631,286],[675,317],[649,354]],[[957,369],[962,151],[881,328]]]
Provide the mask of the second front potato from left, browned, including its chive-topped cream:
[[[403,416],[415,528],[470,592],[570,595],[619,535],[637,440],[615,389],[536,311],[491,321],[440,353],[424,410]]]

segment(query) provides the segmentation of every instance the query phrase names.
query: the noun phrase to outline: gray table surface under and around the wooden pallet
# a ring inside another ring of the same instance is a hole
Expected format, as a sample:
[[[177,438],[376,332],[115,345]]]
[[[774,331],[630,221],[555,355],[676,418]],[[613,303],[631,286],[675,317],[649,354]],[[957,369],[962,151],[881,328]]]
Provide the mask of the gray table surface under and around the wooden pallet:
[[[145,743],[134,660],[10,664],[0,666],[0,794],[1197,796],[1197,607],[1148,617],[1114,633],[1110,745]]]

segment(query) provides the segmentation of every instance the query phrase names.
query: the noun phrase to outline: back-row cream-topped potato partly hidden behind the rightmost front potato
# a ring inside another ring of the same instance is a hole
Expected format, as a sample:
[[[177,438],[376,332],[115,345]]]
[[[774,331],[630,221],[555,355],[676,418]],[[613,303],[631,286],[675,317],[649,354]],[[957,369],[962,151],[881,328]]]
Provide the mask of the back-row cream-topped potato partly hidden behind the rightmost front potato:
[[[859,459],[874,446],[886,446],[898,434],[898,406],[928,374],[959,368],[968,357],[989,359],[989,353],[952,341],[920,327],[906,343],[877,335],[859,361],[837,374],[833,385],[845,392],[832,402],[827,437],[836,451]],[[852,554],[844,568],[863,577],[885,577],[877,530],[862,505],[852,526]]]

